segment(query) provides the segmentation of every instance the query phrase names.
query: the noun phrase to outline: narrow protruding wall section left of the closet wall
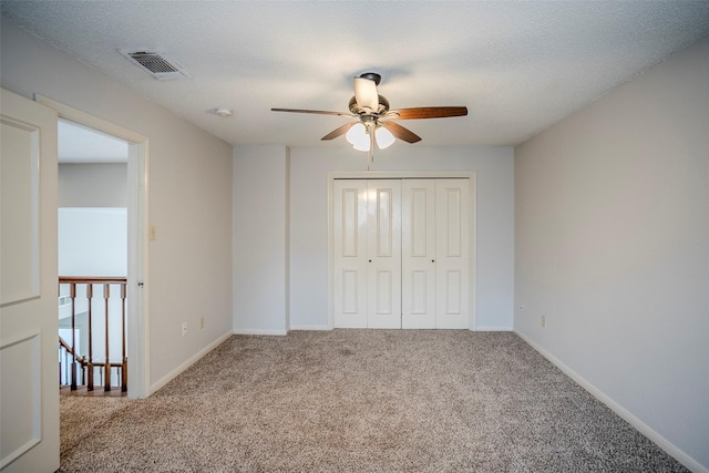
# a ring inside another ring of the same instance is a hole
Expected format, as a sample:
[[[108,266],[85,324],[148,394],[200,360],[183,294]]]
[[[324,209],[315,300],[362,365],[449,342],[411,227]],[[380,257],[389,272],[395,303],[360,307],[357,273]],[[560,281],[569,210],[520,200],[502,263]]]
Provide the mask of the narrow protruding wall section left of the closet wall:
[[[282,145],[234,148],[234,331],[288,330],[288,161]]]

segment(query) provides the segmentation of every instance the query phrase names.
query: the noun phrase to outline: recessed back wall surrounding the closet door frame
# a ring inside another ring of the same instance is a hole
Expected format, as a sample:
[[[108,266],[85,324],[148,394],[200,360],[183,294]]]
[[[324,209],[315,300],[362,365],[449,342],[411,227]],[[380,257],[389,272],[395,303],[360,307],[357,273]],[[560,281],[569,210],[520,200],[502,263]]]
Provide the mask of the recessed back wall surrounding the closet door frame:
[[[290,321],[328,323],[327,176],[366,171],[364,153],[337,147],[290,152]],[[511,329],[514,292],[512,147],[433,148],[397,143],[379,152],[372,171],[475,171],[477,177],[477,327]]]

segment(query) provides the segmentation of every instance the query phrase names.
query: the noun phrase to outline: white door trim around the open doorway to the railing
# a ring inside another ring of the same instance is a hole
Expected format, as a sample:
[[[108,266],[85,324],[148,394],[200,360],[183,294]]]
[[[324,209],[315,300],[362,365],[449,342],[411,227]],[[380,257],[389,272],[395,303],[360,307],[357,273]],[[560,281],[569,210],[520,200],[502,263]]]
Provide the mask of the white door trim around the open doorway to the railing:
[[[120,125],[40,94],[34,100],[56,111],[60,119],[70,120],[129,142],[127,214],[129,264],[127,284],[137,297],[129,298],[127,358],[129,398],[147,398],[150,392],[148,332],[148,258],[147,232],[147,163],[148,138]]]

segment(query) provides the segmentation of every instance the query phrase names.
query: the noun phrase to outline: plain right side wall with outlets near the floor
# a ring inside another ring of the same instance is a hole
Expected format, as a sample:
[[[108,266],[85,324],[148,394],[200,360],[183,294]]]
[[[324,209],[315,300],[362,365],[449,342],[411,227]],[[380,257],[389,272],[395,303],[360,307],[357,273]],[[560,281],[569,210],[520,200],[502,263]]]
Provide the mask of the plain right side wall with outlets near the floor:
[[[697,471],[709,471],[708,132],[703,40],[515,150],[515,329]]]

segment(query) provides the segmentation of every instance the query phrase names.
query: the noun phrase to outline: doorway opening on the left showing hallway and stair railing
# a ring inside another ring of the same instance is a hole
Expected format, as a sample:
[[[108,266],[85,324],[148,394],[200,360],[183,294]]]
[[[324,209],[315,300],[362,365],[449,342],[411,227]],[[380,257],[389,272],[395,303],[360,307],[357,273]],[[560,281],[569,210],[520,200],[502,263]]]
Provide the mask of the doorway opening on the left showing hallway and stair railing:
[[[127,394],[129,143],[58,123],[62,393]]]

